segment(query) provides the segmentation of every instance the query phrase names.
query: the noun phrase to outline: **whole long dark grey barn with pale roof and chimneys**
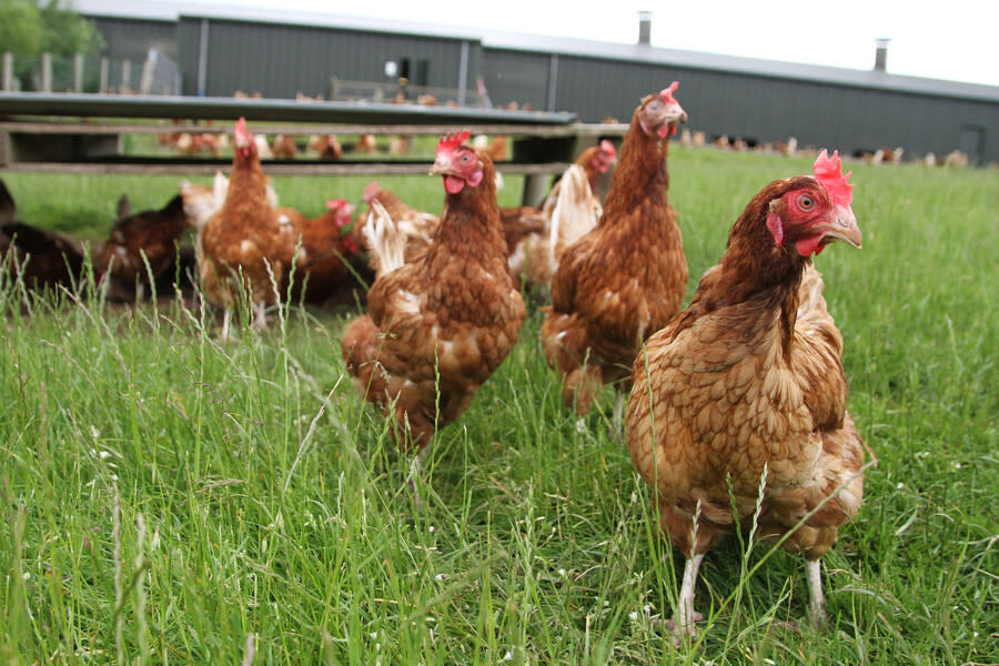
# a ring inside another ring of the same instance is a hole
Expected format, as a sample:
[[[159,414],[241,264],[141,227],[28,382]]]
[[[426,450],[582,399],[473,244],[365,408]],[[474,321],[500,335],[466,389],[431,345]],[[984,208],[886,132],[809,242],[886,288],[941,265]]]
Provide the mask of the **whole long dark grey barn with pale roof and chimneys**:
[[[438,91],[461,103],[516,103],[627,121],[652,90],[680,81],[689,127],[747,143],[963,151],[999,162],[999,88],[652,47],[442,26],[194,4],[80,0],[111,58],[155,48],[183,94],[339,98]],[[642,33],[642,31],[638,31]],[[647,34],[647,31],[645,31]],[[872,61],[874,49],[872,49]],[[487,100],[487,101],[486,101]]]

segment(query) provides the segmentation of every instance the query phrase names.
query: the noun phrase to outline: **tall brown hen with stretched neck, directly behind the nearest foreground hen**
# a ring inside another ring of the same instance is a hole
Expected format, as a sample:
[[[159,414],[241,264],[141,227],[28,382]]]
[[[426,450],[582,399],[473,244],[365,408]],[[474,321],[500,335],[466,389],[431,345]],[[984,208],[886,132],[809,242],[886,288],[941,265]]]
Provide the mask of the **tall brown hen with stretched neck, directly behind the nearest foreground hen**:
[[[601,384],[615,382],[614,427],[620,432],[624,393],[645,339],[679,310],[687,261],[669,204],[666,154],[686,112],[673,93],[649,94],[635,109],[604,213],[568,246],[552,278],[545,309],[545,356],[563,377],[563,402],[586,414]]]

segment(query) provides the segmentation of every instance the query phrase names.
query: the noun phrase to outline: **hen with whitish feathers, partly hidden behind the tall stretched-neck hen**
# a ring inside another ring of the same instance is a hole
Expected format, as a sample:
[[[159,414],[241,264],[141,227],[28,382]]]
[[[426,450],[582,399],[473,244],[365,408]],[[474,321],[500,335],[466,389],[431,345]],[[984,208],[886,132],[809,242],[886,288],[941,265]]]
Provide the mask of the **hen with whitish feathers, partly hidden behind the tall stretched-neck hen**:
[[[617,157],[614,144],[587,148],[562,174],[541,210],[500,209],[509,252],[509,271],[528,286],[547,286],[562,252],[593,229],[603,206],[597,181]]]

